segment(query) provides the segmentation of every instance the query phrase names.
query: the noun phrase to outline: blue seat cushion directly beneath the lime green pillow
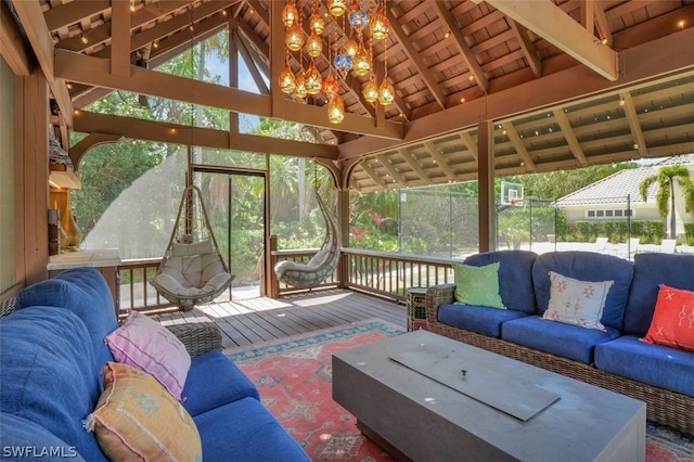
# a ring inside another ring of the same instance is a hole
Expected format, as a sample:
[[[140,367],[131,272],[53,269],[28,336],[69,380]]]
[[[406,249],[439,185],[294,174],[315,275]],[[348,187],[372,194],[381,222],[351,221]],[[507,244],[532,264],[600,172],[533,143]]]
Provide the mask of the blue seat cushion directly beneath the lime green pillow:
[[[515,309],[498,309],[473,305],[447,304],[438,308],[438,321],[454,328],[499,338],[501,323],[511,319],[530,316]]]

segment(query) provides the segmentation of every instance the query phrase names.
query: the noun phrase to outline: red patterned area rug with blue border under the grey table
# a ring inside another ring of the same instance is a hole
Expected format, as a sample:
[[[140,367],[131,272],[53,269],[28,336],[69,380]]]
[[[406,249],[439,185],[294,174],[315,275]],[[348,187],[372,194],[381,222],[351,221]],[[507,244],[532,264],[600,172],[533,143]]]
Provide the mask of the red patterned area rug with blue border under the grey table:
[[[332,399],[332,355],[404,332],[380,319],[224,351],[312,460],[391,461]],[[646,461],[694,462],[694,438],[648,423]]]

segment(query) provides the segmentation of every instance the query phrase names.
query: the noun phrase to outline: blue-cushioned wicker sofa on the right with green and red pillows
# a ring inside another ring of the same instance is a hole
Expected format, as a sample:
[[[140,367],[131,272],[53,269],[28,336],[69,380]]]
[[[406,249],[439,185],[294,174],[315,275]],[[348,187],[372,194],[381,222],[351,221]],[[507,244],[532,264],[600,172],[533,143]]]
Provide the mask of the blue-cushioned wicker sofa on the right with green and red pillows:
[[[694,255],[637,254],[631,262],[591,252],[499,251],[464,260],[475,267],[496,262],[506,309],[457,304],[455,285],[441,284],[426,293],[427,329],[641,399],[648,420],[694,434],[694,352],[641,341],[659,284],[694,291]],[[542,319],[550,271],[614,281],[604,300],[604,330]]]

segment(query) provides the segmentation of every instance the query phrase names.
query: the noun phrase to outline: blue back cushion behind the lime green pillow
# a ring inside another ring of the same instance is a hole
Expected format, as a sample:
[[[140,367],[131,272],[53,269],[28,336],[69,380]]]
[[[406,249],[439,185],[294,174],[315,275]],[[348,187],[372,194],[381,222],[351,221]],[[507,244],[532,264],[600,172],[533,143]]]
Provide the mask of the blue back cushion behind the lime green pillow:
[[[537,254],[528,251],[483,252],[465,258],[475,267],[499,262],[499,295],[507,309],[535,312],[535,290],[529,274]]]

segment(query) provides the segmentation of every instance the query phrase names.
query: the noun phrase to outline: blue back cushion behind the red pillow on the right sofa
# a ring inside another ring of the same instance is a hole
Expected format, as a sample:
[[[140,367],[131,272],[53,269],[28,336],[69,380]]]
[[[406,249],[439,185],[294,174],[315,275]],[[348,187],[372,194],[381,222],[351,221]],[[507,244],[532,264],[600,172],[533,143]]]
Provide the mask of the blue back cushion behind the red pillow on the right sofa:
[[[643,337],[653,320],[658,284],[694,291],[694,255],[637,254],[625,311],[625,333]]]

